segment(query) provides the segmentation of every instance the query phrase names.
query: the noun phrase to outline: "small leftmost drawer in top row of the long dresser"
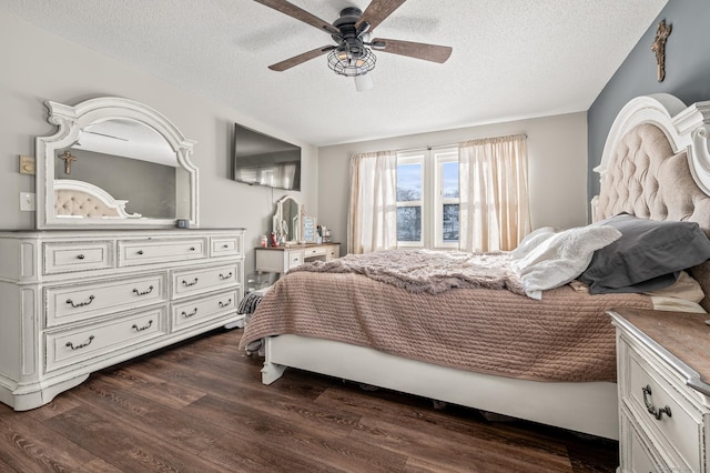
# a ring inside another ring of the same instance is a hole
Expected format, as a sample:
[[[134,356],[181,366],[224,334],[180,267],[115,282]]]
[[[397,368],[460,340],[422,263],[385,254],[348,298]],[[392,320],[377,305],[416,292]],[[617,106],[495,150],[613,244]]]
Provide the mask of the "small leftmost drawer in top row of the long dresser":
[[[44,243],[44,274],[113,268],[113,242]]]

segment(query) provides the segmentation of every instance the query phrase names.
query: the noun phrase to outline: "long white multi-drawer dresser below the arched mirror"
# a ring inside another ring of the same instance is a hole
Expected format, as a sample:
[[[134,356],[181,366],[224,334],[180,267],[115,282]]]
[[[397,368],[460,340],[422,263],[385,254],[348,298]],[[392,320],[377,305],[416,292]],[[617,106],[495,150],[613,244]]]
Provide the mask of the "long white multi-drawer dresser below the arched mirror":
[[[89,373],[240,326],[244,230],[0,233],[0,401],[38,407]]]

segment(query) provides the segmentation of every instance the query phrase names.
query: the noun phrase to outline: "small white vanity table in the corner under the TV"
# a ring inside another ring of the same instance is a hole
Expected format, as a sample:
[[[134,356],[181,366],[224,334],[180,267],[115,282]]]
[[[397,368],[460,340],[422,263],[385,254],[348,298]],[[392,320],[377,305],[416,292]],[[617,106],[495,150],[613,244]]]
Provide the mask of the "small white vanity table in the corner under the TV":
[[[285,273],[307,261],[328,261],[341,256],[339,243],[256,248],[256,271]]]

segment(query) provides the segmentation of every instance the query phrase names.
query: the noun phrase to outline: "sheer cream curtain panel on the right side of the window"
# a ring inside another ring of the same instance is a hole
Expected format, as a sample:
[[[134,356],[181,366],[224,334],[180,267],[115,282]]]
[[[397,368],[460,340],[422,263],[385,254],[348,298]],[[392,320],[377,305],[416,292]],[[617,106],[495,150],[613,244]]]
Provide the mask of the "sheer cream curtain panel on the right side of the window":
[[[530,231],[524,134],[459,143],[459,249],[514,250]]]

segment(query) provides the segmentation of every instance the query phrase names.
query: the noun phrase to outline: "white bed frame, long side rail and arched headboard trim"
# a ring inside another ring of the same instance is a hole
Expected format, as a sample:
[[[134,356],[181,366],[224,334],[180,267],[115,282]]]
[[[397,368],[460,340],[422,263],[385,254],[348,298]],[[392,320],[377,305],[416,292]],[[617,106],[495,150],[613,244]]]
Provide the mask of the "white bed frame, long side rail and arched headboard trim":
[[[612,151],[617,141],[641,123],[657,124],[676,151],[689,150],[692,174],[699,188],[710,194],[710,125],[707,124],[710,123],[710,102],[687,108],[668,94],[640,97],[621,110],[607,139],[601,164],[595,170],[601,179],[613,165]],[[592,201],[594,215],[597,215],[596,201]],[[598,215],[602,217],[610,215]],[[601,437],[619,436],[616,383],[517,380],[428,364],[322,339],[297,335],[266,339],[262,382],[273,383],[288,366]]]

